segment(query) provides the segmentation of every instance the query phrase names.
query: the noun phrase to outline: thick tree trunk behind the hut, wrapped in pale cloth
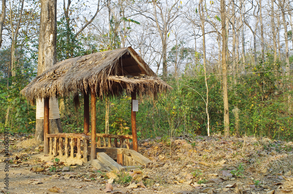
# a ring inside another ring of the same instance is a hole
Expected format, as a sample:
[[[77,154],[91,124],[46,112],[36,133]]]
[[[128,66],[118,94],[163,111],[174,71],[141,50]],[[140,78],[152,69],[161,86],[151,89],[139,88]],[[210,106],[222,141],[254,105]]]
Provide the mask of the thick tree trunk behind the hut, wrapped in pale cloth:
[[[39,37],[39,56],[38,56],[38,75],[56,63],[56,37],[57,37],[57,1],[41,0],[40,14],[40,37]],[[44,103],[44,101],[42,101]],[[52,103],[50,109],[58,108],[57,103]],[[38,107],[37,107],[38,109]],[[49,115],[50,116],[50,115]],[[61,127],[60,115],[50,119],[50,133],[63,132]],[[35,139],[44,140],[43,119],[36,120]]]

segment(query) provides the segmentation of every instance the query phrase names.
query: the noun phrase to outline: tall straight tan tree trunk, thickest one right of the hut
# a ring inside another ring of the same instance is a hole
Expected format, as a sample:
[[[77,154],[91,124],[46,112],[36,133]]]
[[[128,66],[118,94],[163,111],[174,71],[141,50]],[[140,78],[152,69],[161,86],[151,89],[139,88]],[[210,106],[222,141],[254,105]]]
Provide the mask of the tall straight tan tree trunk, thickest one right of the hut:
[[[221,0],[221,23],[222,23],[222,69],[223,69],[223,101],[224,101],[224,127],[225,135],[230,135],[229,107],[228,107],[228,87],[227,87],[227,63],[226,63],[226,23],[225,23],[225,0]]]

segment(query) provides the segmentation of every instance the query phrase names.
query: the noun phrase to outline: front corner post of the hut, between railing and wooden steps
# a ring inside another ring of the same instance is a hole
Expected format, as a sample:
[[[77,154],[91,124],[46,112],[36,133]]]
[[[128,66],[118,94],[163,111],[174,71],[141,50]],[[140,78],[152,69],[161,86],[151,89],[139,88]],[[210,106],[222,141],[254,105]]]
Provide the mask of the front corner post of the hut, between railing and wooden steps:
[[[96,159],[96,89],[91,91],[91,161]]]

